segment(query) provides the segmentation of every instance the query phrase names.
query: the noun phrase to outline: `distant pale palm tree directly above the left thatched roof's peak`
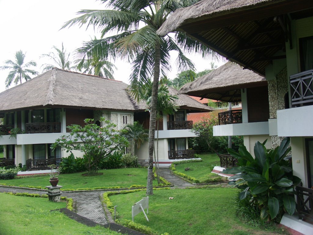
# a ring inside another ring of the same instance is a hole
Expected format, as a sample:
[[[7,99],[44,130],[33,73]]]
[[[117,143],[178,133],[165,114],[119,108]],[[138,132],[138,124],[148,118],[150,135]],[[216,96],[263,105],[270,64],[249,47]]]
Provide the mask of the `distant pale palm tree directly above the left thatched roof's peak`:
[[[54,65],[52,64],[44,64],[41,65],[41,67],[44,67],[44,71],[48,71],[53,69],[54,67],[58,67],[63,70],[71,70],[75,68],[75,66],[71,66],[71,61],[69,60],[70,53],[66,53],[66,50],[64,49],[63,42],[62,42],[62,49],[57,48],[56,46],[53,46],[52,49],[54,49],[56,52],[49,52],[48,54],[42,54],[40,58],[42,57],[48,57],[50,60],[54,62]]]

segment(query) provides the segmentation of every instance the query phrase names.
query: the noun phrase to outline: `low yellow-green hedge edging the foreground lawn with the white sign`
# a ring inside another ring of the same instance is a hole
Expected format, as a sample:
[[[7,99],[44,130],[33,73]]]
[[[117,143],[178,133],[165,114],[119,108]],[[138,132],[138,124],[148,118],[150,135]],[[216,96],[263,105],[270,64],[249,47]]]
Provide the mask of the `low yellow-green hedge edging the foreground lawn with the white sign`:
[[[163,190],[163,189],[170,189],[169,187],[166,188],[155,188],[153,187],[153,190]],[[106,209],[111,213],[111,216],[114,215],[114,206],[113,203],[111,202],[109,196],[112,195],[117,195],[117,194],[127,194],[127,193],[133,193],[133,192],[139,192],[139,191],[144,191],[145,189],[134,189],[134,190],[122,190],[122,191],[109,191],[109,192],[105,192],[103,194],[103,203],[106,205]],[[118,213],[116,213],[118,215]],[[170,235],[169,233],[165,232],[165,233],[158,233],[156,231],[154,231],[153,229],[151,229],[148,226],[142,225],[140,223],[135,223],[131,220],[119,220],[116,219],[115,222],[119,225],[125,226],[125,227],[129,227],[131,229],[137,230],[139,232],[148,234],[148,235]]]

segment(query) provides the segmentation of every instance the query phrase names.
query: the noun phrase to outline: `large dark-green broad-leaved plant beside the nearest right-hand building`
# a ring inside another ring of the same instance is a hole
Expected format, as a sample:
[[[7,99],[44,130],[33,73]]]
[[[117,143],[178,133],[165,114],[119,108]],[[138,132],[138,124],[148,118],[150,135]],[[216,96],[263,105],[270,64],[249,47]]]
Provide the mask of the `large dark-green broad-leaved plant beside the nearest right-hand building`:
[[[262,220],[279,222],[285,211],[294,214],[294,186],[301,180],[293,175],[290,157],[286,157],[291,150],[290,138],[284,138],[275,149],[267,150],[265,143],[255,143],[255,159],[244,146],[239,147],[239,153],[228,149],[228,153],[238,159],[238,167],[223,170],[223,173],[239,174],[229,178],[232,180],[229,184],[242,190],[239,200],[253,197]]]

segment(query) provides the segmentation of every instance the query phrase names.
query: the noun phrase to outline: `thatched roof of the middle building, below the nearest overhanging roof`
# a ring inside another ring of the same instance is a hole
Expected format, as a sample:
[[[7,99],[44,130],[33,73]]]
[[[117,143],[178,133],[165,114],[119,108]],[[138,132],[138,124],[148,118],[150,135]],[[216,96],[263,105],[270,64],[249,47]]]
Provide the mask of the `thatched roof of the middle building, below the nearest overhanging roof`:
[[[267,81],[251,70],[244,70],[234,63],[226,63],[209,74],[185,84],[178,93],[235,102],[241,101],[241,88],[255,86],[267,86]]]

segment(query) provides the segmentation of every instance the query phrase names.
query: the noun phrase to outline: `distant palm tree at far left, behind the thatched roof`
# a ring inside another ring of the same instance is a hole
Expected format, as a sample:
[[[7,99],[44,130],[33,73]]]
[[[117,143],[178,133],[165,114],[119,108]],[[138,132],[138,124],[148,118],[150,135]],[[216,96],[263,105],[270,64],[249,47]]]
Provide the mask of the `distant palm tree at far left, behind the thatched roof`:
[[[32,75],[38,75],[37,71],[27,69],[29,66],[37,66],[37,64],[33,60],[24,64],[25,54],[23,53],[22,50],[15,52],[15,62],[13,62],[12,60],[6,60],[4,62],[6,65],[0,67],[1,70],[11,69],[9,75],[5,80],[6,88],[8,88],[11,85],[12,81],[16,86],[18,85],[18,82],[22,84],[22,78],[24,78],[25,81],[30,80],[31,77],[28,75],[28,73]]]

